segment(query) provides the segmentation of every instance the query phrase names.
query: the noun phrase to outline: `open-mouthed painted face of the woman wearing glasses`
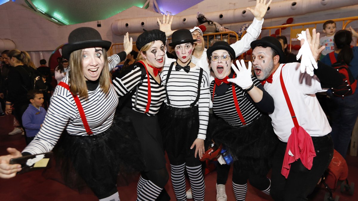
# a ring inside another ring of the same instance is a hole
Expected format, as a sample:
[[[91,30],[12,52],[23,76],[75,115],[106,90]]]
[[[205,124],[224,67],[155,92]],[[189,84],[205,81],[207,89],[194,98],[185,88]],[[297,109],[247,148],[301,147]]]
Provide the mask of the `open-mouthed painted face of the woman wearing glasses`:
[[[215,50],[211,56],[217,56],[219,59],[214,62],[211,60],[210,67],[213,70],[215,76],[218,79],[223,79],[224,77],[228,76],[231,73],[231,64],[232,60],[229,56],[229,53],[226,50]],[[229,60],[223,61],[222,57],[229,57]],[[210,58],[211,59],[211,58]]]

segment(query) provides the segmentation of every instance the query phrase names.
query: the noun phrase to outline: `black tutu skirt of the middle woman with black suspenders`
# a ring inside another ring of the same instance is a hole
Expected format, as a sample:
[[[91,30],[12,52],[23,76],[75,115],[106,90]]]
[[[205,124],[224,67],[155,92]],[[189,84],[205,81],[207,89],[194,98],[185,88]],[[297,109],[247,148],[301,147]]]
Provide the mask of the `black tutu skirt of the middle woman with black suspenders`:
[[[159,110],[159,125],[167,153],[173,154],[174,157],[180,154],[194,156],[195,148],[190,147],[198,137],[198,106],[177,108],[162,104]]]

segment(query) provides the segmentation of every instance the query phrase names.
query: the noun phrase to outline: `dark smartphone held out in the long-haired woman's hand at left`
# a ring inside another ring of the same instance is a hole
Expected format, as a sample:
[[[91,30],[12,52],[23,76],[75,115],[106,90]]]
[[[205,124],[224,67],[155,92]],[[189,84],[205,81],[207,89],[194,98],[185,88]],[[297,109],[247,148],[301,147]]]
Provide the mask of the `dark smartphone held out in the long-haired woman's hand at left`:
[[[19,158],[11,158],[10,164],[20,164],[22,170],[17,174],[38,170],[51,166],[53,152],[40,153],[35,155],[22,156]]]

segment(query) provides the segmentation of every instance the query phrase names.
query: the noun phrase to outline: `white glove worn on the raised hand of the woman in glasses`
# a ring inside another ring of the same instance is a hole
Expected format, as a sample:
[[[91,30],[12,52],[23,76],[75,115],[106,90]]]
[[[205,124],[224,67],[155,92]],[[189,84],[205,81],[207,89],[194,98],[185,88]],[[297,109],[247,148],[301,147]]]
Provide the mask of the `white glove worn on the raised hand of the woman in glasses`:
[[[241,65],[238,60],[236,60],[237,68],[234,64],[231,64],[231,68],[236,73],[235,78],[227,79],[228,82],[235,83],[242,89],[250,88],[253,84],[251,79],[251,62],[248,62],[248,69],[246,69],[245,61],[241,59]]]

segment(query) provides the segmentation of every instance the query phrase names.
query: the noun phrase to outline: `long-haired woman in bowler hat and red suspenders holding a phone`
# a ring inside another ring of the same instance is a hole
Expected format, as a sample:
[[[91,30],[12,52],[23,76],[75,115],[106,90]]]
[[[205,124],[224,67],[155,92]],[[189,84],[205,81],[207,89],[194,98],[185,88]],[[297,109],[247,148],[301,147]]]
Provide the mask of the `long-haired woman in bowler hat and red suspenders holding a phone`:
[[[125,52],[107,58],[110,46],[93,28],[81,27],[69,34],[62,53],[69,58],[70,69],[55,88],[33,141],[22,153],[8,148],[9,155],[0,156],[1,178],[14,177],[21,170],[21,165],[9,164],[11,158],[49,152],[56,145],[54,155],[66,185],[82,187],[84,181],[98,199],[119,200],[118,173],[140,171],[143,164],[134,128],[128,121],[124,127],[122,116],[115,115],[118,95],[109,74],[132,44],[126,34]]]

